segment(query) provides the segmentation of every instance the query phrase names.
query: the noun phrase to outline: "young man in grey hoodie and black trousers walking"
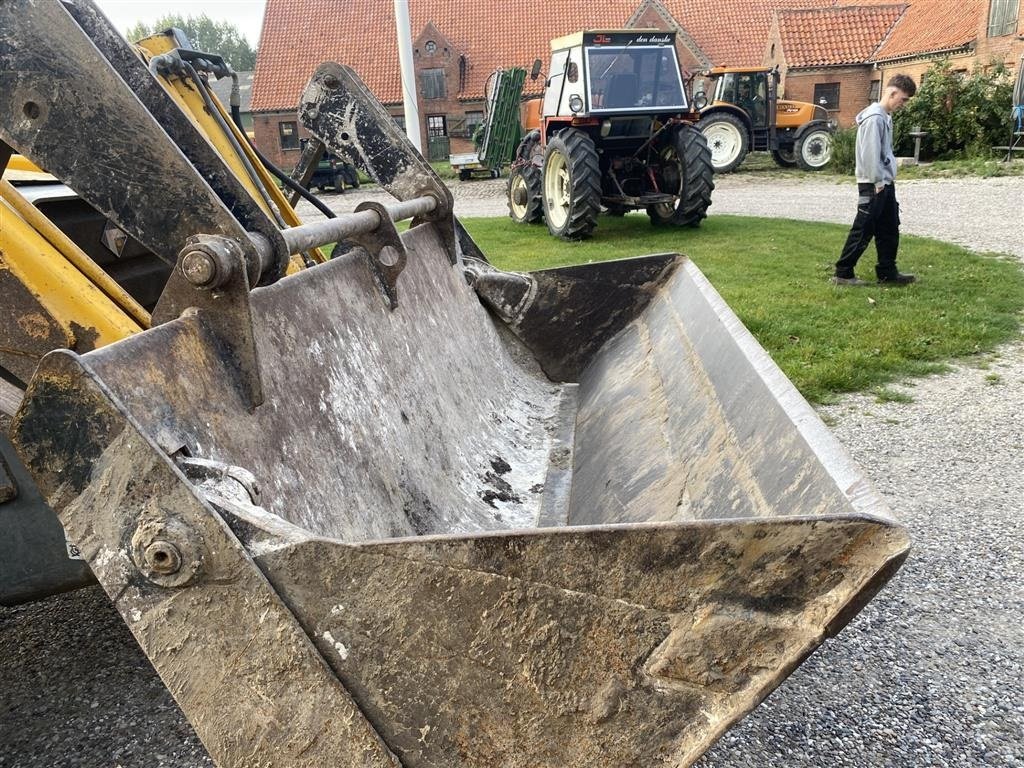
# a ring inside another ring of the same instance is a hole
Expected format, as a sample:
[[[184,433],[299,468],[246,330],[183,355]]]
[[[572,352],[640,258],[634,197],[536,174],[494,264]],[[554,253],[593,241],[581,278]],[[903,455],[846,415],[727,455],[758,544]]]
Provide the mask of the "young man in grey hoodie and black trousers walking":
[[[886,84],[885,93],[876,103],[857,115],[857,217],[836,262],[833,283],[840,286],[866,286],[854,273],[857,260],[871,238],[879,254],[874,274],[882,285],[905,286],[912,274],[896,268],[899,249],[899,204],[896,202],[896,157],[893,155],[892,114],[918,92],[906,75],[895,75]]]

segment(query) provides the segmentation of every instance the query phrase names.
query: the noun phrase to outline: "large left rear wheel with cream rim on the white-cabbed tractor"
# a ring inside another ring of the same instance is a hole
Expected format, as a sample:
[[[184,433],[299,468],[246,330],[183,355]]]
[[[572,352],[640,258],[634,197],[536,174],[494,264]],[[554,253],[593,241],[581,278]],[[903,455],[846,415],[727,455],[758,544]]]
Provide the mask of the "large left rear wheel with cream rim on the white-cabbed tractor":
[[[544,154],[544,218],[562,240],[589,238],[601,208],[601,168],[594,141],[583,131],[565,128]]]

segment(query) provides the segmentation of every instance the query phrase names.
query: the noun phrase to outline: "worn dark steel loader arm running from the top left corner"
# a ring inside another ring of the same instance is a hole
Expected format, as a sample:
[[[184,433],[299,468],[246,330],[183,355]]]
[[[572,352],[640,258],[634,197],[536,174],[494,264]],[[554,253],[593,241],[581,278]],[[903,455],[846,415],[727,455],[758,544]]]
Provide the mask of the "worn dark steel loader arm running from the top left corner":
[[[75,141],[68,140],[69,126],[77,126]],[[57,0],[0,4],[0,138],[168,263],[197,232],[247,242],[232,213]],[[258,261],[255,253],[247,261]]]

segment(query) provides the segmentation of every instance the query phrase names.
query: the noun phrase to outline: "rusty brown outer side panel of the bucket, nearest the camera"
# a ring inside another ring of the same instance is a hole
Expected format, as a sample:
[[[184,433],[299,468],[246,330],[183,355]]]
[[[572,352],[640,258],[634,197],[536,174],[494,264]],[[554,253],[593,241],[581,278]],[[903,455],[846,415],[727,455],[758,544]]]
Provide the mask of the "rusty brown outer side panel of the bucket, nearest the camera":
[[[258,560],[409,768],[688,765],[843,621],[903,532],[772,519]]]

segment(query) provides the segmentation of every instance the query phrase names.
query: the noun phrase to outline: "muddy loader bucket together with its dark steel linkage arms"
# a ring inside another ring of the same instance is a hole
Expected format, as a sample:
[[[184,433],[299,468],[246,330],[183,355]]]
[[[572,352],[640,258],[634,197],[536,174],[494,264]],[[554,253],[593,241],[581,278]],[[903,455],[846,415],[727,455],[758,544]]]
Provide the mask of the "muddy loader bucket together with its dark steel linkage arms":
[[[0,3],[0,138],[173,263],[32,373],[0,515],[45,499],[218,765],[687,766],[906,556],[689,260],[497,269],[351,70],[299,119],[397,202],[280,225],[87,0]]]

